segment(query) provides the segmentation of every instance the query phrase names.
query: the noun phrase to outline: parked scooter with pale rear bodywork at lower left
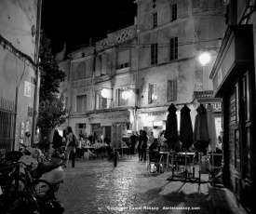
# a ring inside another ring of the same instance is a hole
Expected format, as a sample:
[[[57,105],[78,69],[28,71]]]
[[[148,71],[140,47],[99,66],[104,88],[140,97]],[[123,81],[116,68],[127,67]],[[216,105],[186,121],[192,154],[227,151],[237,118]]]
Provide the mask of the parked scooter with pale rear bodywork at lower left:
[[[23,155],[20,157],[19,162],[23,162],[26,165],[32,165],[34,169],[34,177],[36,179],[48,181],[53,190],[57,192],[60,187],[60,183],[65,178],[64,171],[61,167],[63,164],[59,158],[51,158],[50,160],[42,154],[40,149],[26,146],[20,143],[24,148]],[[28,153],[29,152],[29,153]],[[20,164],[20,173],[24,173],[24,165]]]

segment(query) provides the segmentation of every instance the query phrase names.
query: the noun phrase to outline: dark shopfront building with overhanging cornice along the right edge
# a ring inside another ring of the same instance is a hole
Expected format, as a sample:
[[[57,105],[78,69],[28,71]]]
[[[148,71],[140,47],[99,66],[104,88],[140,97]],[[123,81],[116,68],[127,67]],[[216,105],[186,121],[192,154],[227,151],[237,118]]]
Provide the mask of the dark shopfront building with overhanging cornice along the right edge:
[[[222,99],[223,178],[255,213],[255,1],[225,4],[225,34],[210,74],[214,97]]]

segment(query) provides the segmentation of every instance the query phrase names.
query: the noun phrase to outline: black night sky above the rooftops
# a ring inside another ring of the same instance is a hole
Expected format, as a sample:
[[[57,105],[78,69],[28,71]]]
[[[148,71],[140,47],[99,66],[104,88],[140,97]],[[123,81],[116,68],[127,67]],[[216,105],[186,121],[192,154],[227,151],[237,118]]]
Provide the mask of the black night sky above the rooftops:
[[[134,23],[134,0],[42,0],[41,29],[51,40],[54,53],[67,42],[69,52],[97,42],[108,31]]]

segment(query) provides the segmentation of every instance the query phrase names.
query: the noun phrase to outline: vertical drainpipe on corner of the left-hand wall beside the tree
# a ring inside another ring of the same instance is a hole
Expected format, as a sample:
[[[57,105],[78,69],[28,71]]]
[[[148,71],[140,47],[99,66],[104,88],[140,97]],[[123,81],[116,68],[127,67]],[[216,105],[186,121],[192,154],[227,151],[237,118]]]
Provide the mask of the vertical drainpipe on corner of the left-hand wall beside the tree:
[[[41,11],[42,11],[42,0],[37,0],[37,20],[36,20],[36,37],[35,37],[35,63],[36,63],[36,77],[35,77],[35,88],[34,88],[34,114],[33,114],[33,123],[32,123],[32,139],[31,143],[34,142],[35,132],[36,132],[36,118],[37,118],[37,103],[39,102],[38,93],[39,93],[39,79],[40,79],[40,70],[39,70],[39,47],[40,47],[40,29],[41,29]]]

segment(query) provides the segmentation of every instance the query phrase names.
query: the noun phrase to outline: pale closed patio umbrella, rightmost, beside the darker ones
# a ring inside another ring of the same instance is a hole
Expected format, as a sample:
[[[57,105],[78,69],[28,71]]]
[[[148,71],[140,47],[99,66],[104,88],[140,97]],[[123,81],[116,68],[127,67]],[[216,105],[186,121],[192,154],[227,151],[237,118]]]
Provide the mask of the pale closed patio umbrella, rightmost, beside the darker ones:
[[[216,135],[213,106],[210,104],[208,104],[207,106],[207,124],[208,124],[208,132],[209,132],[209,150],[211,152],[216,152],[217,135]]]

